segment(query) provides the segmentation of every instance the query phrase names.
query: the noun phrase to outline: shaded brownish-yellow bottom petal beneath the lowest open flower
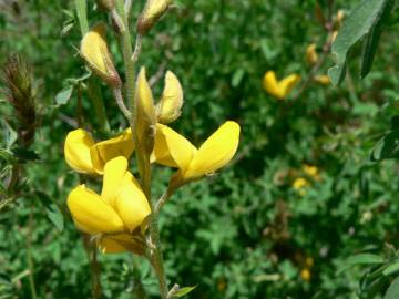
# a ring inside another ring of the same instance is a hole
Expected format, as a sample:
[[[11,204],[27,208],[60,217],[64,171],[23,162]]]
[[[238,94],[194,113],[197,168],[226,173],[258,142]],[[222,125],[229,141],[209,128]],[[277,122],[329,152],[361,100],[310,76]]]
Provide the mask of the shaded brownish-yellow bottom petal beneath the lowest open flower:
[[[131,251],[136,255],[144,254],[143,245],[129,234],[103,237],[99,240],[98,245],[103,254],[120,254],[124,251]]]

